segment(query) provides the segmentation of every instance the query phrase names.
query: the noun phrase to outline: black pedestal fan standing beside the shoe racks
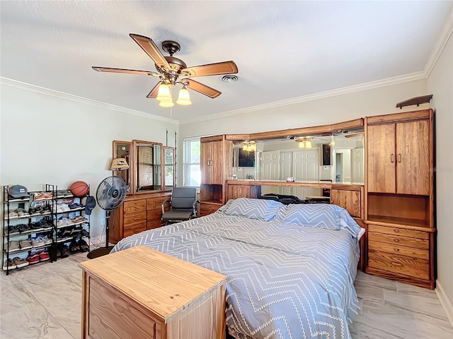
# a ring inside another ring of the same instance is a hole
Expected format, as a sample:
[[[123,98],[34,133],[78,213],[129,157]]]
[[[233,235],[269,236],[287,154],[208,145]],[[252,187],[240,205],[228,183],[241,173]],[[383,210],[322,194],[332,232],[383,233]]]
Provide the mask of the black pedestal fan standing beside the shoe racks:
[[[87,257],[98,258],[105,256],[113,249],[113,246],[108,246],[108,218],[110,212],[120,207],[126,198],[127,185],[121,177],[115,175],[103,179],[96,190],[96,201],[98,206],[105,210],[105,246],[94,249],[88,253]]]

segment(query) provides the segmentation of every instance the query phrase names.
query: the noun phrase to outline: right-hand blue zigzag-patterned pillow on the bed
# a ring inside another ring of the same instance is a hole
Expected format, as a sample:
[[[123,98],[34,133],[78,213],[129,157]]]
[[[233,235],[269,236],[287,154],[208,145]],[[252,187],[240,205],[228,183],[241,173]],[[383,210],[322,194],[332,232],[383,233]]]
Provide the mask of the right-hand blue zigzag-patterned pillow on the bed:
[[[275,220],[291,225],[321,227],[328,230],[340,229],[338,206],[328,203],[298,203],[281,208]],[[342,208],[343,209],[343,208]]]

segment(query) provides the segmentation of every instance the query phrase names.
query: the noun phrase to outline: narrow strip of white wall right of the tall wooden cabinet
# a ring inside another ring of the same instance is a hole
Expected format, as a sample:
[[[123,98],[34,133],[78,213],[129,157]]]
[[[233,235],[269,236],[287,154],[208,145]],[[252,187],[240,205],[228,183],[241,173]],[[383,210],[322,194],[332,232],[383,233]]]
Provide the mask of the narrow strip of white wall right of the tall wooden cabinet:
[[[428,78],[436,125],[437,280],[453,323],[453,37]],[[442,299],[441,299],[442,300]]]

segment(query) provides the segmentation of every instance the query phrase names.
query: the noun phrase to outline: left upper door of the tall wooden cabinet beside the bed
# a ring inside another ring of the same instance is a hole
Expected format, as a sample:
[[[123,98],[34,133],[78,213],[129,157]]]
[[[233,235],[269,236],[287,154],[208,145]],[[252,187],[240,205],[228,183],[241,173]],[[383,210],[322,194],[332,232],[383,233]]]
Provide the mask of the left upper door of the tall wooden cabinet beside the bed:
[[[367,126],[368,191],[396,193],[395,124]]]

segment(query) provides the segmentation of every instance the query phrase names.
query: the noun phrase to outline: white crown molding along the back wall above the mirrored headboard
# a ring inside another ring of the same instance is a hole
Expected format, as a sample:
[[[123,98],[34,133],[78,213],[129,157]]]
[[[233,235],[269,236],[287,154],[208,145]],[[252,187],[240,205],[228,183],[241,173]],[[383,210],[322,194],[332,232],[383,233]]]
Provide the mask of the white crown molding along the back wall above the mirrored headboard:
[[[208,115],[208,116],[204,116],[204,117],[197,117],[195,119],[188,119],[188,120],[180,121],[180,124],[181,125],[193,124],[193,123],[197,123],[197,122],[218,119],[218,118],[222,118],[222,117],[231,117],[231,116],[238,115],[238,114],[246,114],[246,113],[252,113],[252,112],[257,112],[257,111],[263,111],[265,109],[270,109],[270,108],[274,108],[274,107],[294,105],[294,104],[298,104],[300,102],[307,102],[307,101],[323,99],[326,97],[334,97],[336,95],[345,95],[345,94],[349,94],[349,93],[361,92],[363,90],[371,90],[373,88],[386,87],[389,85],[397,85],[399,83],[408,83],[411,81],[417,81],[417,80],[421,80],[424,78],[427,78],[425,71],[419,71],[419,72],[415,72],[415,73],[405,74],[403,76],[395,76],[393,78],[386,78],[386,79],[378,80],[378,81],[370,81],[369,83],[361,83],[359,85],[352,85],[352,86],[348,86],[348,87],[337,88],[335,90],[326,90],[325,92],[303,95],[301,97],[293,97],[293,98],[287,99],[287,100],[270,102],[270,103],[264,104],[264,105],[256,105],[256,106],[246,107],[243,109],[235,109],[235,110],[229,111],[229,112],[222,112],[219,114],[212,114],[212,115]]]

